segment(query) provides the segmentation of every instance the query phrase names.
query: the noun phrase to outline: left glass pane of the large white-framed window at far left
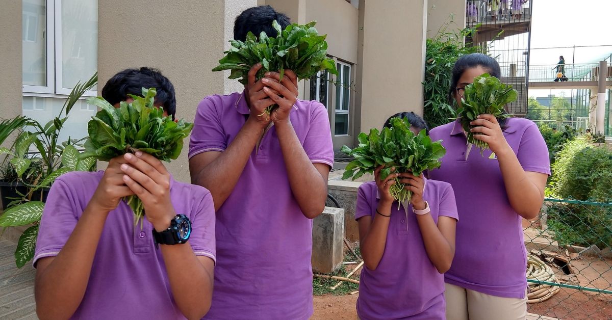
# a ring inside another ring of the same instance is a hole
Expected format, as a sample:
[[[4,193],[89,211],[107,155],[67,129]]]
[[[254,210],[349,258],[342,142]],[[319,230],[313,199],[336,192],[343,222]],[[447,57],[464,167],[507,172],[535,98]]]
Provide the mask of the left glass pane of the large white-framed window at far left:
[[[23,84],[47,86],[47,8],[45,0],[23,0],[21,49]]]

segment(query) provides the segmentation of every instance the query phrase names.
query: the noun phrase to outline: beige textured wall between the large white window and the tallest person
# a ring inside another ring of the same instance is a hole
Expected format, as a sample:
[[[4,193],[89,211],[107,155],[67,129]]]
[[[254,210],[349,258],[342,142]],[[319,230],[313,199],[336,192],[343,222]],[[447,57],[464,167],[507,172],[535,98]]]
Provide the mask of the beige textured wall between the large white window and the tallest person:
[[[157,67],[176,88],[177,117],[193,121],[203,97],[240,89],[237,81],[226,81],[225,73],[211,69],[233,38],[230,30],[236,12],[256,4],[256,0],[100,1],[100,87],[122,69]],[[172,21],[172,28],[160,21]],[[190,181],[187,148],[185,143],[181,157],[168,164],[175,179],[183,182]]]

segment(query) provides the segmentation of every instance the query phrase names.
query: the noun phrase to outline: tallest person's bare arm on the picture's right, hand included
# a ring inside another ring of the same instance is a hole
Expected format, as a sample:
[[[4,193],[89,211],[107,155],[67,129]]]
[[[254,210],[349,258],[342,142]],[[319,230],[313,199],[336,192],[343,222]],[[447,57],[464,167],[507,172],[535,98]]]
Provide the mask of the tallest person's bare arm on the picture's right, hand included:
[[[289,114],[298,94],[296,74],[285,70],[283,80],[279,79],[279,73],[267,72],[262,80],[264,92],[278,105],[278,109],[272,113],[272,121],[285,159],[291,192],[305,217],[312,219],[321,214],[325,207],[330,168],[324,163],[311,162],[291,124]]]

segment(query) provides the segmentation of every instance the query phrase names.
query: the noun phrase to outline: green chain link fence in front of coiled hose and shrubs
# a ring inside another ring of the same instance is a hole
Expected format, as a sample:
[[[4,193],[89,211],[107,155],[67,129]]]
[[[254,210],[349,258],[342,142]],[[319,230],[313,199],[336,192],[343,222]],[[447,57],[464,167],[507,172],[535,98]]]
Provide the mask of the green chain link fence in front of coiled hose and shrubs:
[[[533,319],[612,319],[612,201],[547,198],[523,226]]]

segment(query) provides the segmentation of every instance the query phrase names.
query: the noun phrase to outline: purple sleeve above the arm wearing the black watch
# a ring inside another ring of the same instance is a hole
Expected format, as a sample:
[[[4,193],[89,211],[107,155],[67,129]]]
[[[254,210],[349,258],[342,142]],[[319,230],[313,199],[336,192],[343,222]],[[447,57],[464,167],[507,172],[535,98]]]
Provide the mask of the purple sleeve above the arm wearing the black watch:
[[[200,201],[193,214],[189,244],[196,256],[207,256],[217,264],[215,253],[215,207],[210,192]]]

